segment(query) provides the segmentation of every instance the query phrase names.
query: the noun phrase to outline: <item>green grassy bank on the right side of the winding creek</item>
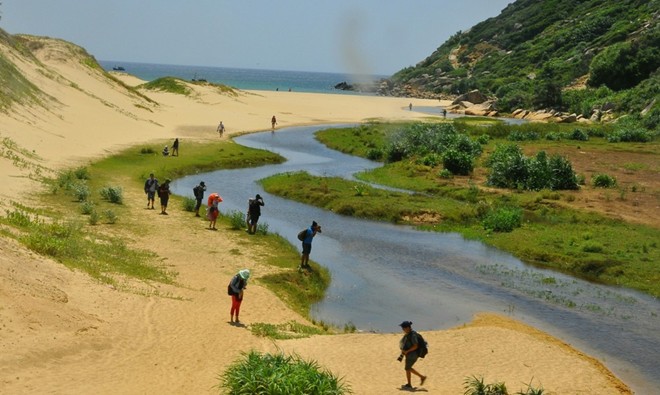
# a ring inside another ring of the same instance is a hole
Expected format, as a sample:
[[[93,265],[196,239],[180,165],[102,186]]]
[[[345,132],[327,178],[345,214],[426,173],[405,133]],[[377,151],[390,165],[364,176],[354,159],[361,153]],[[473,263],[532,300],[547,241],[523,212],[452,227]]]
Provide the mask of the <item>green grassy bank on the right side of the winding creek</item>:
[[[331,141],[330,145],[341,151],[368,157],[373,150],[385,147],[388,133],[397,127],[371,125],[328,130],[319,138]],[[492,151],[497,143],[497,138],[490,138],[484,151]],[[557,141],[537,141],[528,143],[527,149],[531,144],[536,144],[536,148],[561,145]],[[564,142],[569,149],[574,144]],[[608,149],[632,149],[608,146],[597,139],[579,144],[592,144],[605,153]],[[655,155],[657,145],[645,148]],[[457,232],[533,265],[660,296],[657,228],[571,207],[580,191],[487,188],[483,181],[487,170],[480,165],[484,161],[483,157],[478,159],[473,174],[464,177],[443,177],[442,166],[420,163],[419,158],[388,163],[358,175],[369,182],[413,191],[411,194],[307,173],[275,175],[262,183],[269,193],[339,214],[410,223],[431,231]],[[519,213],[518,226],[510,232],[487,226],[489,218],[492,220],[492,216],[502,212]]]

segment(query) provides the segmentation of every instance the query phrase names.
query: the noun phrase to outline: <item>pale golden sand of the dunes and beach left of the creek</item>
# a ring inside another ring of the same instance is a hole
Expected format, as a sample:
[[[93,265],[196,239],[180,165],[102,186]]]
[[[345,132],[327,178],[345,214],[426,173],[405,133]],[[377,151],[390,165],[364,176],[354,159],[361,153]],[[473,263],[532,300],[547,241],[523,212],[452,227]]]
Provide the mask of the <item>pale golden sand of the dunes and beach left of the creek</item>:
[[[186,139],[217,139],[220,120],[231,135],[267,129],[272,115],[279,127],[418,116],[405,109],[406,99],[296,92],[231,96],[206,87],[196,87],[188,98],[149,92],[153,103],[90,71],[64,43],[50,41],[38,50],[41,64],[1,50],[52,96],[47,109],[17,107],[0,116],[0,138],[19,147],[10,150],[15,156],[8,158],[3,149],[0,157],[3,207],[40,188],[31,174],[154,139],[179,137],[182,147]],[[252,336],[254,322],[305,321],[259,286],[259,273],[268,271],[261,263],[266,252],[248,250],[243,235],[209,234],[205,223],[189,214],[145,210],[140,190],[125,193],[130,221],[146,229],[135,246],[156,251],[179,273],[178,285],[130,283],[123,288],[132,292],[120,291],[0,239],[0,393],[214,393],[218,373],[250,349],[314,358],[344,376],[358,394],[399,392],[400,334],[278,342]],[[237,327],[227,322],[225,287],[242,267],[257,275],[241,314],[246,326]],[[154,287],[166,297],[149,296]],[[472,325],[425,335],[431,354],[418,367],[430,377],[425,385],[430,393],[463,393],[465,377],[473,374],[506,381],[514,391],[533,378],[534,385],[554,394],[629,393],[598,361],[507,318],[484,315]]]

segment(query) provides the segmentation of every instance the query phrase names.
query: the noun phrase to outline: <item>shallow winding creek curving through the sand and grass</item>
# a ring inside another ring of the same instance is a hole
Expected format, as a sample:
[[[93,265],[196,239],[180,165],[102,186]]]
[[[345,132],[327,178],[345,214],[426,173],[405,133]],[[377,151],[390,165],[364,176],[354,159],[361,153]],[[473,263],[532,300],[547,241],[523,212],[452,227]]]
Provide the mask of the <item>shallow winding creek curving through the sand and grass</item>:
[[[327,126],[325,126],[327,127]],[[458,234],[358,220],[265,193],[259,179],[305,170],[352,178],[380,164],[330,150],[298,127],[236,138],[287,158],[279,165],[220,170],[173,182],[192,196],[205,181],[219,192],[223,213],[245,212],[247,199],[264,198],[260,222],[294,245],[298,231],[316,220],[311,259],[332,273],[326,298],[313,306],[317,320],[359,330],[398,332],[403,320],[424,331],[469,322],[477,312],[505,314],[544,330],[600,359],[636,393],[660,388],[660,301],[526,265],[515,257]],[[202,226],[200,224],[200,226]],[[222,235],[222,232],[219,236]],[[295,267],[296,260],[291,262]]]

